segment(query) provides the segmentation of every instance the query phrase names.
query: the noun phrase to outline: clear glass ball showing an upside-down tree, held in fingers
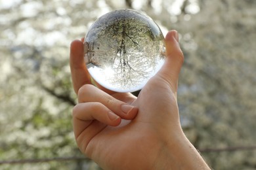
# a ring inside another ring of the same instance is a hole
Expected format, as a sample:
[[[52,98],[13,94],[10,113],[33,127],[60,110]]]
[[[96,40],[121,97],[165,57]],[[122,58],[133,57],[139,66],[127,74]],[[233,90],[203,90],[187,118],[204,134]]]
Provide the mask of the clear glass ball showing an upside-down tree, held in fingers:
[[[146,14],[130,9],[100,16],[85,35],[84,50],[93,80],[115,92],[142,89],[165,60],[160,27]]]

